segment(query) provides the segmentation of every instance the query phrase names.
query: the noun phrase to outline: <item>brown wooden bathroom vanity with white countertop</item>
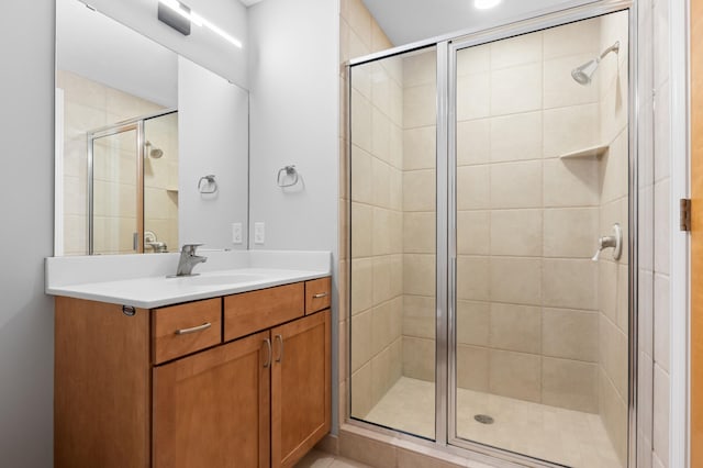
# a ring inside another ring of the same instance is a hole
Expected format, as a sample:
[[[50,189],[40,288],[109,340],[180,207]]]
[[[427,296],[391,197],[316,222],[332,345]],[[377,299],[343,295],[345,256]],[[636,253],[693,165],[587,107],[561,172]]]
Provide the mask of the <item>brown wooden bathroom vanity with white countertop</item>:
[[[236,271],[47,287],[56,467],[291,467],[327,434],[328,272]]]

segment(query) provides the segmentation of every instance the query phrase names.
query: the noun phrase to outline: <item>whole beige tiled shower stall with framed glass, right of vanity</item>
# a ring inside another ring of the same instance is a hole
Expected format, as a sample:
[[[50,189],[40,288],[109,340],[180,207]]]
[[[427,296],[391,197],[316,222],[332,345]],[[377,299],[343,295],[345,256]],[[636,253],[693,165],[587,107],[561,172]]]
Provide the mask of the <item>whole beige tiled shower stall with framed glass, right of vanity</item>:
[[[634,466],[636,21],[606,4],[352,60],[355,424]]]

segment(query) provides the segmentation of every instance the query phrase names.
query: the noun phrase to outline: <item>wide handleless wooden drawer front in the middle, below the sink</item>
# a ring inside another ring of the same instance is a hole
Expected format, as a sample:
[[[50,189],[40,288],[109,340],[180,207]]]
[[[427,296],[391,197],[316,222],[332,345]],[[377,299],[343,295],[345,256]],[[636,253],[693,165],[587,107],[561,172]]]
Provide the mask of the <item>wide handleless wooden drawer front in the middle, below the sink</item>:
[[[304,289],[297,282],[225,297],[225,342],[303,316]]]

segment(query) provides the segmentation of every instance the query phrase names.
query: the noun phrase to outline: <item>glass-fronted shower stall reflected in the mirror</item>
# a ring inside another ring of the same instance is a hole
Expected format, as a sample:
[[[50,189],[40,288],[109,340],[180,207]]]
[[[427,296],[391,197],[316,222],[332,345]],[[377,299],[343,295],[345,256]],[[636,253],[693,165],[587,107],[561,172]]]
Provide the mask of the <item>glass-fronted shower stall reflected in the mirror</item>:
[[[88,254],[178,250],[178,112],[87,133]]]

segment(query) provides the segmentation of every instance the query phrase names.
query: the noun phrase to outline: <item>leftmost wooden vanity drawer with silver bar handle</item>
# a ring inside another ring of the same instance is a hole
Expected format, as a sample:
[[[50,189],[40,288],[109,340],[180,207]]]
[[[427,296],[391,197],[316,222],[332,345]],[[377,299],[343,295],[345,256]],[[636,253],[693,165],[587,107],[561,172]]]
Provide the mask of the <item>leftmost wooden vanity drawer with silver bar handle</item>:
[[[222,299],[154,309],[154,364],[165,363],[222,343]]]

